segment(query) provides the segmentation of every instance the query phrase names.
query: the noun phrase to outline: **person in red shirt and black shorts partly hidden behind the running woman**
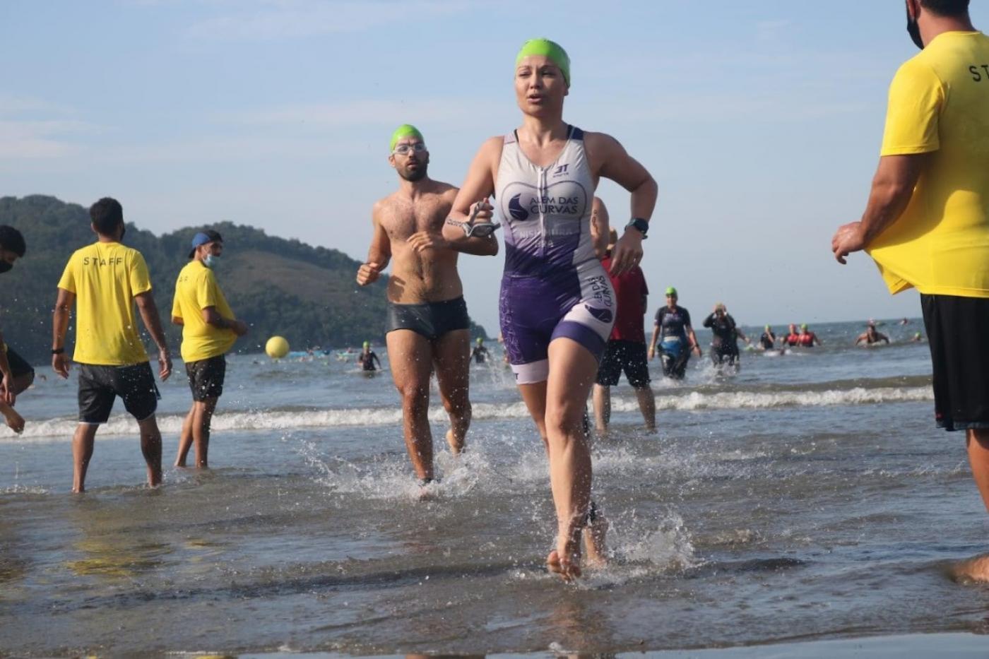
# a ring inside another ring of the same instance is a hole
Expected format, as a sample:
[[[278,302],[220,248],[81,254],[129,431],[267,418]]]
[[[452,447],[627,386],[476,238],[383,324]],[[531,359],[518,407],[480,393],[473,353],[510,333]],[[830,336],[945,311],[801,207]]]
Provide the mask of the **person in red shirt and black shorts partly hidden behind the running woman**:
[[[599,214],[606,215],[604,204],[599,199],[594,199],[594,205]],[[605,223],[602,224],[606,226]],[[656,430],[656,398],[649,385],[644,329],[649,287],[642,268],[638,265],[617,277],[611,274],[611,248],[618,240],[618,234],[612,229],[608,237],[607,252],[601,259],[601,264],[611,279],[617,312],[614,328],[611,329],[604,348],[604,356],[597,367],[594,384],[594,429],[602,437],[607,436],[608,423],[611,421],[611,387],[618,384],[622,371],[635,390],[646,428],[651,432]]]

